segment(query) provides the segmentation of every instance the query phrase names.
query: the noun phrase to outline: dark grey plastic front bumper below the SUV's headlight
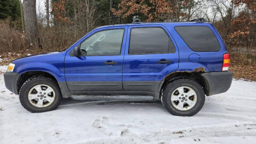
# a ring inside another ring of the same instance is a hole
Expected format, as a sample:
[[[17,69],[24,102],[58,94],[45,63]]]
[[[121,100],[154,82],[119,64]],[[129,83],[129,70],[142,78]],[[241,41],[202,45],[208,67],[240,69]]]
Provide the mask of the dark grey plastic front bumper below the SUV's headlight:
[[[19,73],[6,72],[4,73],[4,83],[5,87],[11,92],[18,95],[17,91],[17,80],[19,78]]]

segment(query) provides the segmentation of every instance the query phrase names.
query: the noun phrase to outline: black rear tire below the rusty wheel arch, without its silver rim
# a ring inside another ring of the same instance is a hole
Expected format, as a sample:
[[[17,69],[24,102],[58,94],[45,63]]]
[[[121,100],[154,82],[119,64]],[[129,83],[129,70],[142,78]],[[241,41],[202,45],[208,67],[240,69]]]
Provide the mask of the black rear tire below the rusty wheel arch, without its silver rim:
[[[173,91],[175,91],[178,87],[180,86],[187,86],[193,89],[197,95],[196,103],[194,107],[188,109],[188,110],[179,110],[175,108],[171,102],[171,95]],[[171,113],[172,115],[175,116],[193,116],[196,113],[198,113],[199,110],[202,109],[205,101],[205,94],[203,91],[203,87],[199,85],[196,81],[193,79],[188,79],[188,78],[181,78],[177,79],[175,81],[167,83],[163,87],[162,91],[162,103],[163,106]]]

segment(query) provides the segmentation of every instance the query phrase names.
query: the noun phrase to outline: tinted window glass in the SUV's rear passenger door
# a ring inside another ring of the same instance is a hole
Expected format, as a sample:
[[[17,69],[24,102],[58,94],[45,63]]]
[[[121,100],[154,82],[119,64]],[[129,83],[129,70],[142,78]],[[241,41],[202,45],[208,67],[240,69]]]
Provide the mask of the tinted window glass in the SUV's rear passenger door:
[[[132,28],[129,54],[173,53],[175,46],[164,29]]]

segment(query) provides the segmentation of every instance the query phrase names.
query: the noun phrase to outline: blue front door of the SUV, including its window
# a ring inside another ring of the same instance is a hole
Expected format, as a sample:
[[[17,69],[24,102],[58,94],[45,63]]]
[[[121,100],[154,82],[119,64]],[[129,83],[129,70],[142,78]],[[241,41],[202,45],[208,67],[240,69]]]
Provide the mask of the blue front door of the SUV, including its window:
[[[122,66],[127,27],[94,30],[75,46],[79,56],[65,58],[69,91],[123,91]]]

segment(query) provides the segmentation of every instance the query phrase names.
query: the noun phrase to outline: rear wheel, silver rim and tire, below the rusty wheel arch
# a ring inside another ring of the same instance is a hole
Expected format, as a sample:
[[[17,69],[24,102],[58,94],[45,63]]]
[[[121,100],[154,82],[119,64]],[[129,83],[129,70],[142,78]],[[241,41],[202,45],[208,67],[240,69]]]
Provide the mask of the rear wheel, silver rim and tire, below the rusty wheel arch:
[[[201,85],[187,78],[177,79],[163,87],[163,106],[177,116],[193,116],[204,105],[205,94]]]

